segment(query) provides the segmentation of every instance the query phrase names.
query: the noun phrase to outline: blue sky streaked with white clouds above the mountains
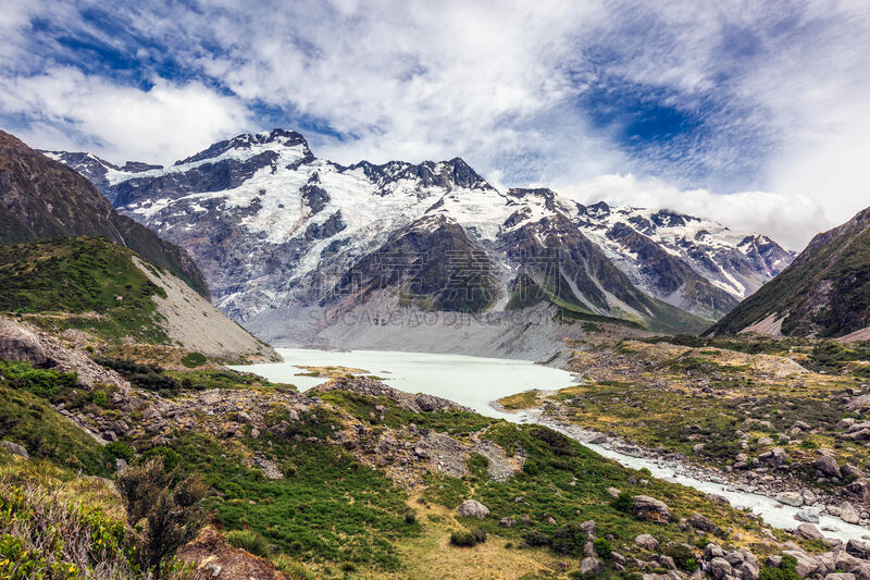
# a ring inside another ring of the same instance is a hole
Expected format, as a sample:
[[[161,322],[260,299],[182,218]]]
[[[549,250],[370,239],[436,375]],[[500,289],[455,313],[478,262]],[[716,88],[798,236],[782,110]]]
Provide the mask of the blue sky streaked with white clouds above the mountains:
[[[0,127],[40,148],[171,163],[282,126],[792,249],[870,206],[867,0],[0,0]]]

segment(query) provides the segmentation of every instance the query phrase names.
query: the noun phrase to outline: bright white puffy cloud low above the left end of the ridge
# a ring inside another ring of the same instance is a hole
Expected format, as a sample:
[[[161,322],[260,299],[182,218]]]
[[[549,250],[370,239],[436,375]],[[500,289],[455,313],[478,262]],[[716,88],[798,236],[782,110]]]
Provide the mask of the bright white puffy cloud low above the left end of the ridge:
[[[33,147],[87,149],[113,161],[169,163],[249,123],[237,99],[199,83],[158,79],[144,90],[69,67],[0,78],[0,108],[32,118],[20,136]]]

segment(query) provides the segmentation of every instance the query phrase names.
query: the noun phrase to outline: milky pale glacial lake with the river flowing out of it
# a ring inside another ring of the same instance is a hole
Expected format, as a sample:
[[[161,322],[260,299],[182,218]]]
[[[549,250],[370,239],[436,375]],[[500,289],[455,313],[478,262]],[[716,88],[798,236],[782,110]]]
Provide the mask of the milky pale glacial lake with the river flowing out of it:
[[[339,351],[306,348],[276,348],[276,350],[284,358],[284,362],[235,368],[254,372],[273,382],[295,384],[300,391],[328,380],[301,377],[300,373],[306,371],[300,369],[300,366],[364,369],[369,374],[378,377],[395,388],[448,398],[482,415],[514,422],[539,421],[534,414],[501,412],[490,403],[530,388],[552,391],[576,384],[574,377],[567,371],[523,360],[386,350]],[[614,459],[625,467],[647,468],[656,478],[721,495],[735,507],[751,509],[773,527],[794,529],[799,523],[795,520],[798,508],[782,505],[771,497],[741,492],[728,484],[701,481],[685,473],[679,465],[646,457],[633,457],[587,443],[584,441],[582,430],[560,430],[596,453]],[[870,538],[870,530],[867,528],[846,523],[832,516],[821,516],[817,527],[830,538],[841,540]]]

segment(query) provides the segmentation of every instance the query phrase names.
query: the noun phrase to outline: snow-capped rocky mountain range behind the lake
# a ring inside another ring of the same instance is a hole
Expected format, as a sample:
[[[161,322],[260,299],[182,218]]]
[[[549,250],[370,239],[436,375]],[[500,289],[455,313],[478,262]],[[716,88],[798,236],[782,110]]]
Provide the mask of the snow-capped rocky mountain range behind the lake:
[[[718,318],[792,258],[763,236],[697,218],[584,207],[549,189],[501,193],[459,158],[340,165],[282,129],[166,168],[47,155],[185,247],[215,304],[243,321],[371,300],[473,312],[545,303],[697,329],[698,316]]]

